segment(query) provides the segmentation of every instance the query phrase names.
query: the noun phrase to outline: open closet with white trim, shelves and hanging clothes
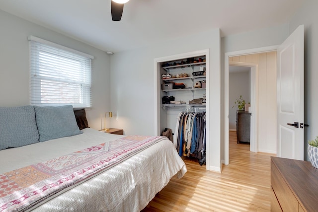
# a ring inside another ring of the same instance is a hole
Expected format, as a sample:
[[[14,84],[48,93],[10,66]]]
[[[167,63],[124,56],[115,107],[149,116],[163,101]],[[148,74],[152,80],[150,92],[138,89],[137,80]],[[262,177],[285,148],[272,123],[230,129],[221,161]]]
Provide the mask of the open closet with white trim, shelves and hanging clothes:
[[[155,133],[171,131],[179,155],[209,170],[208,61],[208,50],[155,59]]]

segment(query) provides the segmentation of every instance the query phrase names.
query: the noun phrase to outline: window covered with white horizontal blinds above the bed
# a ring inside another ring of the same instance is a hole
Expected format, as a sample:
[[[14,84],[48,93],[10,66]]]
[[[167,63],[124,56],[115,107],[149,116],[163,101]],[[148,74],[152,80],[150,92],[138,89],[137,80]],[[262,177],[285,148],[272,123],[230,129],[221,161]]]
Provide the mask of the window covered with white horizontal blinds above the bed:
[[[91,107],[92,56],[30,36],[30,104]]]

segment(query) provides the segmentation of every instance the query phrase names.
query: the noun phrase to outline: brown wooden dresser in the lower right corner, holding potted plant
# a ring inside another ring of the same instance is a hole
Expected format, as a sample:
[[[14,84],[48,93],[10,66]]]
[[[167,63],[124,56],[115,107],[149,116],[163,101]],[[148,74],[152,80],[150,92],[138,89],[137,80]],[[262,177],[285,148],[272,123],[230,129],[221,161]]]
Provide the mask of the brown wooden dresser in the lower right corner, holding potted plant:
[[[271,211],[318,211],[318,169],[311,162],[271,157]]]

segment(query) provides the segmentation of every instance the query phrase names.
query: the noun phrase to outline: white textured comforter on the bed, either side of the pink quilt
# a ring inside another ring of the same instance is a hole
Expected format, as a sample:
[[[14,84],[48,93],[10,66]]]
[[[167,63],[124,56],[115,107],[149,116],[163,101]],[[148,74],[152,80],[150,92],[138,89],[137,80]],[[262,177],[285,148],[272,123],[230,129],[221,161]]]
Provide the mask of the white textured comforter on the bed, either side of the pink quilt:
[[[86,128],[83,134],[0,151],[0,173],[49,160],[123,137]],[[39,212],[139,212],[177,174],[186,172],[169,140],[160,141],[124,162],[32,208]]]

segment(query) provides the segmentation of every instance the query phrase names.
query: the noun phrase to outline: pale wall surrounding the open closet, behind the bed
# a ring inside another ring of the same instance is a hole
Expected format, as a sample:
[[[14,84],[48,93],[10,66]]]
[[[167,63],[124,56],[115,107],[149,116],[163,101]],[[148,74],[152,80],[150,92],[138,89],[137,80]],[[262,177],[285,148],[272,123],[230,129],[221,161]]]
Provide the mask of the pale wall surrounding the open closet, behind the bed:
[[[126,135],[154,135],[154,59],[210,49],[210,166],[220,170],[220,31],[196,32],[187,37],[158,43],[111,56],[112,126],[123,128]],[[213,115],[213,118],[212,118]]]

